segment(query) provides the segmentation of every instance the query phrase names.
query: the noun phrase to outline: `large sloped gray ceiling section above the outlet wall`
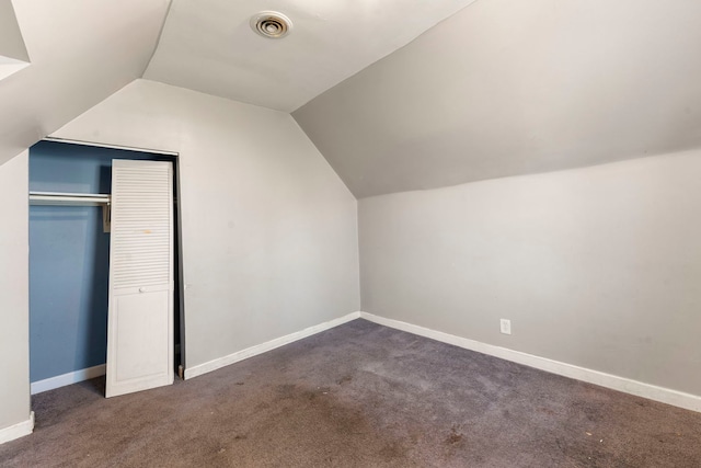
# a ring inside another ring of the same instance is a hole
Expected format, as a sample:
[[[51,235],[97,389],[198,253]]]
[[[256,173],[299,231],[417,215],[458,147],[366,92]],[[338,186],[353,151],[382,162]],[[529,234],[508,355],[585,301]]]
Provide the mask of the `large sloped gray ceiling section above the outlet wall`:
[[[701,147],[701,1],[480,0],[292,116],[358,197]]]

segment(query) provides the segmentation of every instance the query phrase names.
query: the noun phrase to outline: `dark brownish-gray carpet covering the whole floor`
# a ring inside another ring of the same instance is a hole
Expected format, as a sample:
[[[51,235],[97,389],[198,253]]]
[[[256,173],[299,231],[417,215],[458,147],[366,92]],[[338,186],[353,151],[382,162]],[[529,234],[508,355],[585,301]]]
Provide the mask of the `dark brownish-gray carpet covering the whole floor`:
[[[700,467],[701,413],[356,320],[205,376],[34,397],[3,467]]]

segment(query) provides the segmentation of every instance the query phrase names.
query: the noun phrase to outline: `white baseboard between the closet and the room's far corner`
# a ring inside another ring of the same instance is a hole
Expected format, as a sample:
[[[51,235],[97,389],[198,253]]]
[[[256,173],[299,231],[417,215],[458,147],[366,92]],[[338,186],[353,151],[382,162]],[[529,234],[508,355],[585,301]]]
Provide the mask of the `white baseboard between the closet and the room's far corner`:
[[[311,336],[312,334],[317,334],[319,332],[332,329],[334,327],[338,327],[340,324],[349,322],[358,318],[360,318],[360,312],[352,312],[341,318],[337,318],[327,322],[323,322],[314,327],[309,327],[304,330],[290,333],[285,336],[276,338],[275,340],[271,340],[265,343],[256,344],[255,346],[246,347],[245,350],[238,351],[235,353],[206,362],[204,364],[186,367],[185,380],[193,377],[200,376],[203,374],[210,373],[212,370],[228,366],[230,364],[238,363],[239,361],[248,359],[249,357],[256,356],[267,351],[275,350],[276,347],[284,346],[291,342],[301,340],[307,336]]]

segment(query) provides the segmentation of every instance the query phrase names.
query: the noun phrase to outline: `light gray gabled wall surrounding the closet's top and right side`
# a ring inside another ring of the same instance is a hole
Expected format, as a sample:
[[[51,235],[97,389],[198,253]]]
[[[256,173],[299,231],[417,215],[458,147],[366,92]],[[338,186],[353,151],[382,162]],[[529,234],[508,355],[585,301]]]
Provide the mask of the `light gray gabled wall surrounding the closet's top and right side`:
[[[356,201],[289,114],[137,80],[55,136],[180,153],[186,367],[359,309]]]

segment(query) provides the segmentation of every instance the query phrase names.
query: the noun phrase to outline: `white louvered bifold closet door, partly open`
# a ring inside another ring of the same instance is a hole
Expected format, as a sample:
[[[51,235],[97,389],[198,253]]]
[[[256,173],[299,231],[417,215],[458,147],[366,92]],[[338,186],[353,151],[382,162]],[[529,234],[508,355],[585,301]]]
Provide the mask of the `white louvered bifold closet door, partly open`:
[[[173,383],[173,169],[113,160],[105,396]]]

